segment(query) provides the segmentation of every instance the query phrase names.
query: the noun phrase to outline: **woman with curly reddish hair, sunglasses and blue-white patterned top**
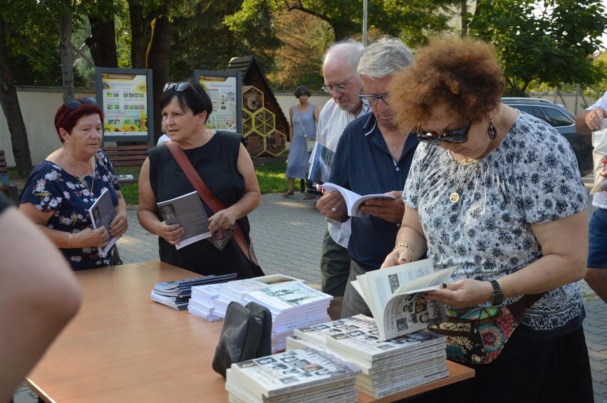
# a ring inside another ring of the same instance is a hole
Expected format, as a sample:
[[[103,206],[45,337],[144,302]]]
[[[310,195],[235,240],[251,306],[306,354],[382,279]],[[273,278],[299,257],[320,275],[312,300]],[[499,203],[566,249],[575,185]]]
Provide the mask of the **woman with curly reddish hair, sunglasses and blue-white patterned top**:
[[[502,104],[503,91],[494,49],[471,38],[435,38],[391,83],[398,122],[422,144],[383,267],[424,253],[435,270],[455,267],[427,294],[452,317],[542,295],[495,360],[469,364],[472,380],[420,400],[592,402],[577,283],[588,250],[586,189],[564,137]]]

